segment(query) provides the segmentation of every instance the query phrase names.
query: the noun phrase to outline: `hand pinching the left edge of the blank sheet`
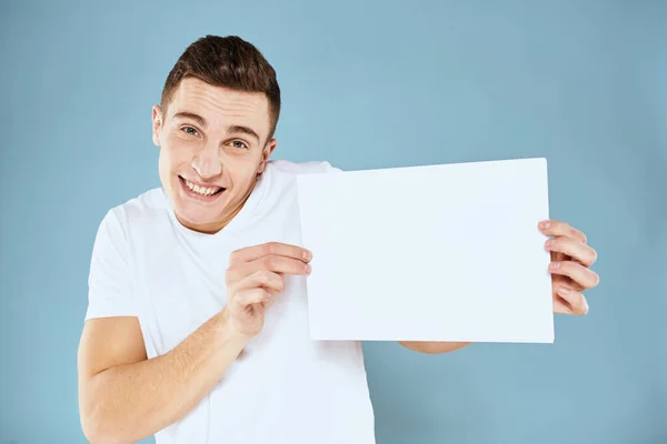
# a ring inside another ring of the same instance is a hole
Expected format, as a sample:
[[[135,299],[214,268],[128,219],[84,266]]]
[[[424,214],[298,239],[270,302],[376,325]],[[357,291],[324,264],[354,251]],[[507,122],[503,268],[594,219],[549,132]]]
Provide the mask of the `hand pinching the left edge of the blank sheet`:
[[[279,242],[237,250],[227,269],[226,315],[235,333],[253,337],[263,327],[265,309],[285,290],[285,275],[307,275],[311,253]]]

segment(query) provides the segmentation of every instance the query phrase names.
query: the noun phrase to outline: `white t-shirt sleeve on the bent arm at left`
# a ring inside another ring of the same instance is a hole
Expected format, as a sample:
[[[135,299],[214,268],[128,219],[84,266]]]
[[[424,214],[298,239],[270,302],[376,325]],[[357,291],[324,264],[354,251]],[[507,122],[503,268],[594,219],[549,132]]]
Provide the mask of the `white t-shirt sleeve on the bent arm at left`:
[[[117,210],[98,228],[88,276],[86,321],[94,317],[136,316],[127,234]]]

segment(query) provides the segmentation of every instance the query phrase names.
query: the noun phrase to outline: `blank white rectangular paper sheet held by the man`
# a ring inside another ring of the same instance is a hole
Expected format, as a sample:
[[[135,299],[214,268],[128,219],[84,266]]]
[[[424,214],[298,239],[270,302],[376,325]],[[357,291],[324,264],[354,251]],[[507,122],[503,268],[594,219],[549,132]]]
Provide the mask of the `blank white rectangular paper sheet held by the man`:
[[[546,159],[297,180],[312,340],[554,342]]]

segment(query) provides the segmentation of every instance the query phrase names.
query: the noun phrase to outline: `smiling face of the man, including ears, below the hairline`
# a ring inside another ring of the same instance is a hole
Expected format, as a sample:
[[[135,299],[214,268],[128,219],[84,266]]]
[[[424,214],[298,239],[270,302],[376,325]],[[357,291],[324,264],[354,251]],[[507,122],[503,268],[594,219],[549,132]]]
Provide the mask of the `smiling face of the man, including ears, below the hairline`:
[[[166,113],[153,107],[160,180],[179,221],[213,233],[240,211],[266,168],[276,140],[269,102],[248,93],[183,79]]]

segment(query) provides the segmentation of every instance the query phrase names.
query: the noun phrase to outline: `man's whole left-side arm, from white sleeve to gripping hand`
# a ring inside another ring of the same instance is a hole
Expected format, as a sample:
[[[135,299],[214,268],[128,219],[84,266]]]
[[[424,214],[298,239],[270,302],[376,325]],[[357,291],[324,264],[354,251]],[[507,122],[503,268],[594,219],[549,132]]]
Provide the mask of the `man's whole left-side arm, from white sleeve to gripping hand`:
[[[98,230],[79,346],[81,426],[94,444],[137,442],[183,417],[259,334],[265,306],[285,290],[285,276],[309,272],[310,255],[298,246],[268,243],[233,252],[225,309],[148,360],[122,219],[110,212]]]

